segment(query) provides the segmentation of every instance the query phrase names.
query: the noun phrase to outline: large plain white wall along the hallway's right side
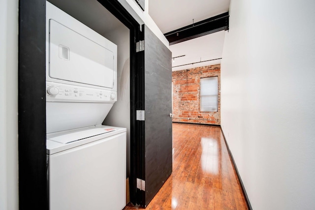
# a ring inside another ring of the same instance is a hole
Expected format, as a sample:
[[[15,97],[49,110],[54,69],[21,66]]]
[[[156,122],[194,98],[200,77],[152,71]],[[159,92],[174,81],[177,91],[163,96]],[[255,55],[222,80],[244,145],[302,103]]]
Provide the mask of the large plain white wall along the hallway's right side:
[[[254,210],[315,207],[314,8],[231,0],[221,126]]]

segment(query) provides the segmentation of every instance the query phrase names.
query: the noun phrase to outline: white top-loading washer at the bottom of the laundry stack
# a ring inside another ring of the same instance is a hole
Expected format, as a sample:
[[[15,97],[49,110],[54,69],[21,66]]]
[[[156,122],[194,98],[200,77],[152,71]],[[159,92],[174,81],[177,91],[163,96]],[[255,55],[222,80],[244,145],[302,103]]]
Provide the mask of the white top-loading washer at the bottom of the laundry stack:
[[[126,206],[126,128],[99,125],[48,134],[47,163],[50,210]]]

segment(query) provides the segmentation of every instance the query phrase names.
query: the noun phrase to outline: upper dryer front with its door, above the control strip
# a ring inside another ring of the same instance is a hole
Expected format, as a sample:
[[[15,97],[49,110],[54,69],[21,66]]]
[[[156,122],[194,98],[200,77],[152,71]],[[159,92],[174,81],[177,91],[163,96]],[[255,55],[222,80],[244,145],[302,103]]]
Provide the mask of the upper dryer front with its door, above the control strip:
[[[46,81],[117,91],[117,45],[46,1]]]

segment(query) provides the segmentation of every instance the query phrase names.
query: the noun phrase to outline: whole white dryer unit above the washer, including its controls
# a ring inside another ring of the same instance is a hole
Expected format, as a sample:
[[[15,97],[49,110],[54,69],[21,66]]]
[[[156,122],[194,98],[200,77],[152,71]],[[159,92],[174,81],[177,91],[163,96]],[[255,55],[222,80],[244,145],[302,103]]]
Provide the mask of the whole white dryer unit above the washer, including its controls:
[[[46,132],[103,122],[117,101],[117,45],[46,1]]]

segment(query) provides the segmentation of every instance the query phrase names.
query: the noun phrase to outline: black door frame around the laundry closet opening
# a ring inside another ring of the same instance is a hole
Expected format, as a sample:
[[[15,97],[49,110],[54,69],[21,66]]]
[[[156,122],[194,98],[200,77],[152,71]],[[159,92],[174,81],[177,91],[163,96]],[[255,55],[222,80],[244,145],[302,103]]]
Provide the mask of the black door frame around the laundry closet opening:
[[[130,201],[136,203],[136,147],[141,132],[140,25],[118,0],[98,0],[130,30]],[[46,0],[19,1],[18,154],[19,209],[48,210],[46,167]]]

